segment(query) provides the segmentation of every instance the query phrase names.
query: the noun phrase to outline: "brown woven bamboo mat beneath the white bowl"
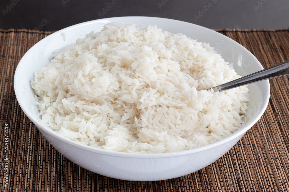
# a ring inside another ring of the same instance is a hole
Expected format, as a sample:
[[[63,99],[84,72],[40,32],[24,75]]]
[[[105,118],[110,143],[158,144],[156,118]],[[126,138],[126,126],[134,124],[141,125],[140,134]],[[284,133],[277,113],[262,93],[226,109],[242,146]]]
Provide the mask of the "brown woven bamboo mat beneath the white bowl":
[[[216,31],[246,47],[264,68],[289,59],[289,29]],[[63,157],[17,103],[16,66],[30,47],[49,34],[0,30],[1,191],[289,191],[288,76],[270,80],[271,98],[262,118],[210,166],[170,180],[117,180]]]

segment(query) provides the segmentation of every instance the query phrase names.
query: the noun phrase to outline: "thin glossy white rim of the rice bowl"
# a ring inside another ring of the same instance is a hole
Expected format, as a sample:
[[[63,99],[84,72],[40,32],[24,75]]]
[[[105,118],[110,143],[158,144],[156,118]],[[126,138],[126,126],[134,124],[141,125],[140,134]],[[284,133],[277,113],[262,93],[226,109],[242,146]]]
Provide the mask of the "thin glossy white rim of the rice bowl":
[[[79,26],[85,26],[85,25],[88,25],[88,24],[93,24],[93,23],[107,23],[109,22],[109,20],[111,19],[115,19],[115,18],[118,18],[118,19],[126,19],[126,18],[132,18],[132,19],[146,19],[146,18],[156,18],[156,19],[160,19],[160,20],[167,20],[167,21],[177,21],[177,22],[180,22],[180,23],[184,23],[186,25],[194,25],[194,26],[197,26],[197,27],[201,27],[205,30],[211,30],[211,32],[213,33],[218,33],[217,31],[214,31],[212,29],[209,29],[209,28],[206,28],[206,27],[203,27],[203,26],[200,26],[200,25],[197,25],[197,24],[193,24],[193,23],[189,23],[189,22],[185,22],[185,21],[180,21],[180,20],[175,20],[175,19],[168,19],[168,18],[160,18],[160,17],[147,17],[147,16],[123,16],[123,17],[110,17],[110,18],[102,18],[102,19],[96,19],[96,20],[91,20],[91,21],[86,21],[86,22],[81,22],[79,24],[75,24],[75,25],[72,25],[72,26],[68,26],[66,28],[63,28],[61,30],[58,30],[50,35],[48,35],[47,37],[41,39],[40,41],[38,41],[36,44],[34,44],[24,55],[23,57],[21,58],[21,60],[25,57],[26,54],[29,54],[29,52],[31,52],[33,49],[36,49],[36,46],[37,44],[41,43],[42,41],[46,41],[47,38],[52,38],[56,35],[59,35],[61,33],[64,33],[65,31],[68,31],[72,28],[76,28],[76,27],[79,27]],[[221,33],[218,33],[219,35],[222,35],[224,37],[227,37]],[[230,41],[234,41],[233,39],[230,39]],[[234,43],[237,43],[240,48],[243,49],[244,52],[247,52],[248,54],[250,54],[251,56],[253,56],[253,58],[255,58],[257,60],[257,58],[251,53],[249,52],[249,50],[247,50],[244,46],[242,46],[240,43],[234,41]],[[19,61],[19,63],[21,63],[21,60]],[[257,60],[258,61],[258,60]],[[259,62],[259,61],[258,61]],[[262,67],[262,66],[261,66]],[[263,68],[263,67],[262,67]],[[17,70],[18,69],[18,70]],[[15,95],[16,95],[16,99],[18,101],[18,104],[20,105],[21,109],[23,110],[23,112],[25,113],[25,115],[27,115],[27,117],[36,125],[36,127],[38,128],[38,130],[40,132],[44,131],[44,132],[48,132],[49,134],[52,134],[53,137],[61,140],[61,141],[64,141],[66,143],[69,143],[70,145],[73,145],[74,147],[78,147],[78,148],[81,148],[81,149],[85,149],[85,150],[88,150],[88,151],[92,151],[92,152],[97,152],[97,153],[101,153],[101,154],[105,154],[105,155],[110,155],[110,156],[117,156],[117,157],[129,157],[129,158],[155,158],[155,155],[158,154],[159,157],[158,158],[167,158],[167,157],[180,157],[180,156],[184,156],[184,155],[188,155],[188,154],[193,154],[193,153],[199,153],[199,152],[202,152],[202,151],[206,151],[206,150],[209,150],[209,149],[212,149],[216,146],[216,143],[218,142],[221,142],[221,143],[227,143],[231,140],[233,140],[234,138],[238,138],[238,137],[242,137],[250,128],[252,128],[255,123],[262,117],[263,113],[265,112],[266,110],[266,107],[268,105],[268,102],[269,102],[269,97],[265,98],[264,99],[264,105],[260,108],[260,112],[258,113],[257,117],[254,118],[252,120],[251,123],[249,123],[247,126],[245,126],[244,128],[240,129],[240,130],[237,130],[236,132],[230,134],[229,136],[227,136],[226,138],[222,139],[222,140],[219,140],[219,141],[216,141],[216,142],[213,142],[213,143],[210,143],[208,145],[204,145],[204,146],[201,146],[201,147],[197,147],[197,148],[194,148],[194,149],[187,149],[187,150],[184,150],[184,151],[176,151],[176,152],[167,152],[167,153],[128,153],[128,152],[119,152],[119,151],[112,151],[112,150],[107,150],[107,149],[99,149],[99,148],[96,148],[96,147],[91,147],[91,146],[88,146],[88,145],[85,145],[85,144],[82,144],[80,142],[77,142],[77,141],[74,141],[74,140],[71,140],[71,139],[68,139],[64,136],[61,136],[60,134],[56,133],[55,131],[53,131],[51,128],[45,126],[45,125],[42,125],[42,124],[39,124],[37,121],[35,121],[35,118],[33,116],[30,116],[29,114],[27,114],[25,111],[24,106],[22,104],[22,102],[19,102],[18,98],[19,96],[17,95],[17,92],[16,92],[16,88],[18,87],[16,84],[15,84],[15,79],[17,78],[17,76],[15,75],[17,72],[19,71],[19,67],[17,65],[16,67],[16,70],[15,70],[15,73],[14,73],[14,79],[13,79],[13,84],[14,84],[14,92],[15,92]],[[267,81],[266,83],[266,90],[268,90],[268,94],[270,94],[270,85],[269,85],[269,80],[265,80]],[[47,138],[45,138],[47,139]],[[160,155],[161,154],[161,155]]]

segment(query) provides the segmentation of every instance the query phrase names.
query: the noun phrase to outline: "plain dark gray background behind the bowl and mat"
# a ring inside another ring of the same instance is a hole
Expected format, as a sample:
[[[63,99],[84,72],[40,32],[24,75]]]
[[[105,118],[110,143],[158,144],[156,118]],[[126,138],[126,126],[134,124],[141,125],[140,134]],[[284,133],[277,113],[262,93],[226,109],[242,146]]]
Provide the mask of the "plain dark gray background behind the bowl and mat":
[[[55,31],[99,18],[153,16],[213,29],[275,29],[289,27],[288,8],[288,0],[1,0],[0,28]]]

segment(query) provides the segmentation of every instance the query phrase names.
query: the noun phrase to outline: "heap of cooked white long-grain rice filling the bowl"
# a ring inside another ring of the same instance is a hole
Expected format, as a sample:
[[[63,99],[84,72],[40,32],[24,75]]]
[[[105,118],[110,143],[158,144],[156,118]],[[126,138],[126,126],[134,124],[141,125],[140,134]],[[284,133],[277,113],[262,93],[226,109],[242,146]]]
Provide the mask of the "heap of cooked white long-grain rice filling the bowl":
[[[207,43],[110,23],[59,50],[31,85],[42,121],[58,134],[100,149],[165,153],[240,127],[248,88],[204,90],[239,77]]]

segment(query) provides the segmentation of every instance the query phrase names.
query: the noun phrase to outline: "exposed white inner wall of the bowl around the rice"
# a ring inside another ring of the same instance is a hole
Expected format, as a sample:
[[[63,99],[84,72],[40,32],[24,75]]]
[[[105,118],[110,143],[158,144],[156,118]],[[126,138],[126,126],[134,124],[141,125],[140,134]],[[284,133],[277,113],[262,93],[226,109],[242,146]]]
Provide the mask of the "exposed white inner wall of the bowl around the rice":
[[[263,69],[260,62],[236,41],[233,41],[216,31],[195,24],[153,17],[118,17],[84,22],[64,28],[36,43],[36,45],[27,51],[16,68],[14,75],[16,98],[24,113],[39,129],[43,129],[46,132],[50,132],[55,137],[61,138],[60,136],[57,136],[55,132],[44,126],[40,121],[34,98],[35,94],[30,86],[30,81],[33,78],[34,72],[50,62],[53,51],[60,49],[65,45],[75,43],[77,38],[84,38],[85,34],[90,33],[91,31],[100,31],[103,28],[103,25],[109,22],[119,22],[122,24],[134,23],[136,26],[157,25],[165,31],[183,33],[192,39],[197,39],[197,41],[210,43],[210,46],[214,47],[215,50],[222,55],[225,61],[234,63],[235,71],[242,76]],[[260,81],[249,85],[249,93],[250,101],[248,102],[249,108],[247,110],[245,123],[237,132],[226,138],[227,140],[243,135],[262,116],[269,100],[269,81]],[[66,138],[61,139],[66,140]],[[204,147],[208,148],[210,146]],[[204,147],[193,150],[198,151]]]

